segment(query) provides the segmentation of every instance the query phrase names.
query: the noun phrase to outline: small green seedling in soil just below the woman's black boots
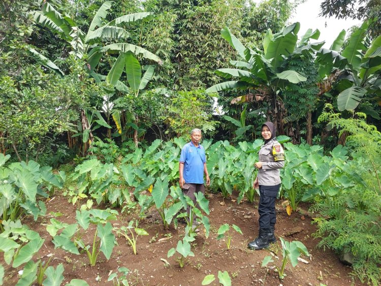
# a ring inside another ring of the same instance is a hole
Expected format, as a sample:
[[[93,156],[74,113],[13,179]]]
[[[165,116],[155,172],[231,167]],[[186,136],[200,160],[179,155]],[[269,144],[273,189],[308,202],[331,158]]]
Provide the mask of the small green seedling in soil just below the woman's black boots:
[[[282,255],[283,255],[283,262],[282,266],[279,269],[277,266],[276,269],[279,273],[279,279],[282,280],[286,276],[284,273],[284,268],[287,264],[287,262],[290,260],[293,267],[298,265],[298,257],[300,255],[309,256],[307,248],[304,246],[303,243],[300,241],[285,241],[283,238],[280,238],[280,242],[282,243]],[[271,256],[266,256],[262,261],[262,267],[265,267],[270,262],[274,262],[271,258]]]

